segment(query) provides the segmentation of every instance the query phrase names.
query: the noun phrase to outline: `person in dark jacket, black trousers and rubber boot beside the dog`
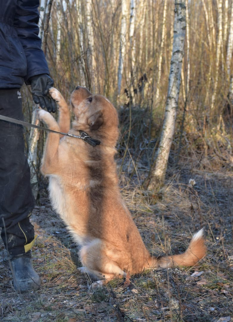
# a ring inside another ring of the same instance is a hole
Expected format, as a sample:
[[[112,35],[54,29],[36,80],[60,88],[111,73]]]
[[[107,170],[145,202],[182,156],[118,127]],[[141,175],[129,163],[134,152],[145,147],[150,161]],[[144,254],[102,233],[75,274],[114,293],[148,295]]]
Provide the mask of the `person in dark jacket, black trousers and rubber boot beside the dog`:
[[[48,94],[53,80],[41,49],[39,0],[0,1],[0,115],[23,120],[20,88],[31,85],[33,100],[49,112],[56,103]],[[39,289],[31,248],[30,215],[34,198],[24,153],[23,127],[0,121],[0,227],[9,254],[14,288]]]

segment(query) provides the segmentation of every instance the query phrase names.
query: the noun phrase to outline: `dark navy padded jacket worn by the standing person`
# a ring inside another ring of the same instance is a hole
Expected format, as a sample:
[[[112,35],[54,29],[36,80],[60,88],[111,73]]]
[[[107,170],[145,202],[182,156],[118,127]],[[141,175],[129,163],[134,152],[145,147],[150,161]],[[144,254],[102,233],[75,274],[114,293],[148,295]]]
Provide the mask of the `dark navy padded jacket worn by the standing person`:
[[[39,38],[39,0],[0,0],[0,88],[49,74]]]

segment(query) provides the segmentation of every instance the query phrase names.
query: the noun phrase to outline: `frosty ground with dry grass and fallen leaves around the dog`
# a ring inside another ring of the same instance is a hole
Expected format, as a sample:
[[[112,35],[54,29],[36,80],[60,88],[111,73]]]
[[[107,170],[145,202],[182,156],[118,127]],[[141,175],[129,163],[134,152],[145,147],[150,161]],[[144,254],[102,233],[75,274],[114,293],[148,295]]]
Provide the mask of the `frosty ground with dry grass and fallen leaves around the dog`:
[[[143,171],[138,167],[137,175]],[[13,289],[1,243],[1,321],[233,321],[232,172],[170,167],[155,196],[131,172],[130,166],[122,169],[122,195],[149,251],[155,256],[184,251],[204,227],[206,257],[194,268],[145,271],[130,283],[115,280],[93,290],[89,276],[77,271],[76,244],[41,189],[32,222],[38,235],[33,265],[42,288],[22,294]]]

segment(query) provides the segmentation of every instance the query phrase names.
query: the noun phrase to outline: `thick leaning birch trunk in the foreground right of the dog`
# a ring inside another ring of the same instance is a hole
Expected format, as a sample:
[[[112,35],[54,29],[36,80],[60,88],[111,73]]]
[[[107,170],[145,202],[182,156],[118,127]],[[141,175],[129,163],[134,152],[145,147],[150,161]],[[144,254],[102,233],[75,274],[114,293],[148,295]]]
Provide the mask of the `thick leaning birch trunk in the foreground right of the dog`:
[[[181,69],[185,40],[185,0],[175,0],[173,48],[166,100],[165,116],[155,168],[150,179],[149,190],[157,190],[164,183],[168,157],[175,130],[176,111],[181,83]]]

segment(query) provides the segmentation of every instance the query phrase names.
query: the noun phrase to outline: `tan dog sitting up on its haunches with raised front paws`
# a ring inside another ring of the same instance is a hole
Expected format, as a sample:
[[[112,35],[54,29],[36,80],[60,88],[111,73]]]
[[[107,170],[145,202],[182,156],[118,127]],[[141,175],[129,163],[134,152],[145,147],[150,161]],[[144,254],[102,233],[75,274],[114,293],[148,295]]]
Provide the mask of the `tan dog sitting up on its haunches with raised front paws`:
[[[132,217],[121,199],[114,155],[118,117],[103,96],[78,86],[70,103],[75,120],[61,93],[50,89],[59,106],[58,123],[40,109],[39,118],[55,131],[79,135],[79,130],[99,140],[95,147],[83,140],[49,133],[41,171],[49,176],[51,203],[80,246],[81,272],[93,275],[96,286],[117,276],[193,266],[205,255],[203,230],[197,232],[180,255],[155,258],[146,250]],[[95,286],[93,283],[93,286]]]

